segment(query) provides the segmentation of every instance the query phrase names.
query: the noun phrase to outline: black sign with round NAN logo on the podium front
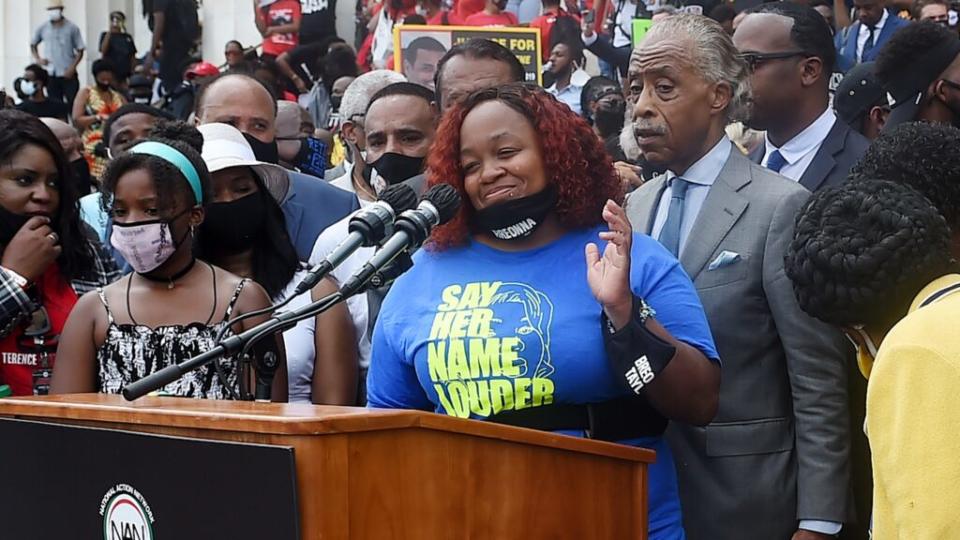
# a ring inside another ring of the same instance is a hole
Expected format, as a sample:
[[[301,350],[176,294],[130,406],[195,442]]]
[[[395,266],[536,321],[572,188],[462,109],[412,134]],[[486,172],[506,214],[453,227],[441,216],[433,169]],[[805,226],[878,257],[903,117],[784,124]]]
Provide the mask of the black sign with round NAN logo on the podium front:
[[[0,538],[300,538],[293,449],[0,419]]]

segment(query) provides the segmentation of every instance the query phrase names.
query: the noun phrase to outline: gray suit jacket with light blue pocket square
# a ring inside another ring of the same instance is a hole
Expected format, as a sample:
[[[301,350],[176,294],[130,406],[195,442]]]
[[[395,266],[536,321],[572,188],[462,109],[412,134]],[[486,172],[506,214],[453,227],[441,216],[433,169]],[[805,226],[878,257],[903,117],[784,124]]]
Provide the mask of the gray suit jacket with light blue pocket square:
[[[649,234],[665,186],[630,195],[635,230]],[[714,421],[667,432],[691,540],[788,540],[799,519],[851,517],[847,345],[800,310],[783,268],[809,195],[734,148],[680,254],[723,362]],[[724,251],[739,258],[710,270]]]

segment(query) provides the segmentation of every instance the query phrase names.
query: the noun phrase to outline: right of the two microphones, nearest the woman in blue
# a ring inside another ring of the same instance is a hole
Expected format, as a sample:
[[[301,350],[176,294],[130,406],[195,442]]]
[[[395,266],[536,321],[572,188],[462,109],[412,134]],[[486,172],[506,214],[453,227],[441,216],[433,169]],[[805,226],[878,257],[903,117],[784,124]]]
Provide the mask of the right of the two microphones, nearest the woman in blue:
[[[397,216],[394,223],[397,232],[340,287],[344,298],[361,292],[370,278],[398,255],[410,248],[419,247],[430,236],[434,227],[450,221],[459,208],[460,195],[453,186],[438,184],[430,188],[416,209],[407,210]]]

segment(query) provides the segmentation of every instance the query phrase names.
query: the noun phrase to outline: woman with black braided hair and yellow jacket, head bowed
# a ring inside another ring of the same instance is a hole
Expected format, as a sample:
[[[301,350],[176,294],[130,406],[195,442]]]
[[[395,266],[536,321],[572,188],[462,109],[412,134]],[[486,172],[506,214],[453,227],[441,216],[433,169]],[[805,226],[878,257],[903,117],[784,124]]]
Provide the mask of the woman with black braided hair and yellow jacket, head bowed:
[[[800,306],[841,327],[869,377],[873,537],[950,538],[960,505],[960,273],[950,229],[912,188],[814,194],[786,256]]]

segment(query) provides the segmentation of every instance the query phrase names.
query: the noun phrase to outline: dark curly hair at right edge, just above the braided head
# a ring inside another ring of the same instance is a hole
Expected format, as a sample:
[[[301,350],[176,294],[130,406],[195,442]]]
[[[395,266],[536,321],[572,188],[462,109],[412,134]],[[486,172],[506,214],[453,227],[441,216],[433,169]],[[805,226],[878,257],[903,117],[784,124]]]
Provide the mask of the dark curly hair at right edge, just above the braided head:
[[[881,133],[850,174],[916,189],[960,232],[960,129],[928,122],[900,124]]]

